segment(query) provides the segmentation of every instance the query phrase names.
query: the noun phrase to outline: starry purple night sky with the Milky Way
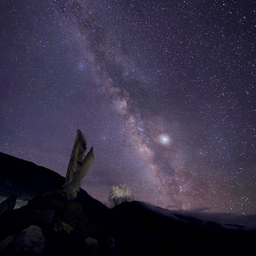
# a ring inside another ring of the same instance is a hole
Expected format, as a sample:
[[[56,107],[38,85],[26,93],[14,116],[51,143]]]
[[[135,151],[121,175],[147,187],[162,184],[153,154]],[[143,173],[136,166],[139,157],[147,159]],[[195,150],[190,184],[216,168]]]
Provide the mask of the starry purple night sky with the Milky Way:
[[[65,176],[76,131],[107,202],[256,213],[256,4],[2,0],[0,151]]]

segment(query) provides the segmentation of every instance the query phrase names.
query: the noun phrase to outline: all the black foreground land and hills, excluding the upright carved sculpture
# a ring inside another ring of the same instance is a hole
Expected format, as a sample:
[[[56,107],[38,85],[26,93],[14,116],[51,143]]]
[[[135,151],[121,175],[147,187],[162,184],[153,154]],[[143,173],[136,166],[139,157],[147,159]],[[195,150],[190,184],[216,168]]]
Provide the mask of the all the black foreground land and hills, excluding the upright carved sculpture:
[[[137,201],[109,209],[83,190],[68,200],[64,181],[0,154],[0,255],[255,255],[253,228]],[[28,204],[14,210],[16,197]]]

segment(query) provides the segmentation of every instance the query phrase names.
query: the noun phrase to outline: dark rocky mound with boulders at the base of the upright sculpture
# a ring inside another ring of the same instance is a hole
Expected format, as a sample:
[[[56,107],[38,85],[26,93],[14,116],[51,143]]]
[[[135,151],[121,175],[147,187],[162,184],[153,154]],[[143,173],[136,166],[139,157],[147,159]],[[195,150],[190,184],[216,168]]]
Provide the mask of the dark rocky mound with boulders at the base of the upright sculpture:
[[[12,210],[15,199],[0,205],[0,255],[117,255],[104,218],[90,215],[81,195],[50,191]]]

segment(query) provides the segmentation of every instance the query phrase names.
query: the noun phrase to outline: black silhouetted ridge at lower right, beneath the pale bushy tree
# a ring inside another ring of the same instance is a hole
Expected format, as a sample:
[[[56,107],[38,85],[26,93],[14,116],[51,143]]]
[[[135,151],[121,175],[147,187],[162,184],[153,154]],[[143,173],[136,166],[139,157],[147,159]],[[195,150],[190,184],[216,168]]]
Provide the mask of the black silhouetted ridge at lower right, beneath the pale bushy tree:
[[[138,201],[121,203],[110,215],[122,255],[251,255],[256,249],[255,231],[223,228]]]

